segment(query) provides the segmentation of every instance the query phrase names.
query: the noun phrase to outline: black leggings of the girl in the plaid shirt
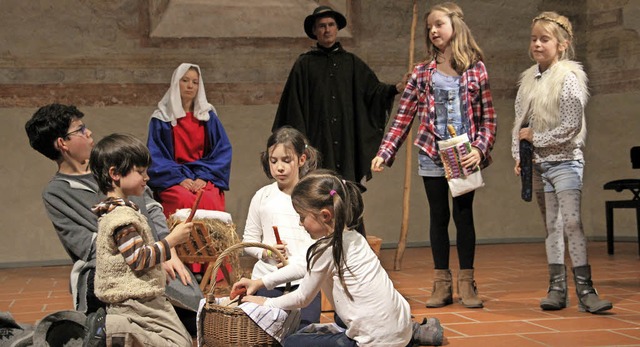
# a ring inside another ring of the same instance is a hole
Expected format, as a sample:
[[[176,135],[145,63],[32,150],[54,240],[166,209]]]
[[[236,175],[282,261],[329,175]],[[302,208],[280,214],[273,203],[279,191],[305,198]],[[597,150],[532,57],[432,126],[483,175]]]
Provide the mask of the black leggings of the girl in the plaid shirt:
[[[449,269],[449,184],[444,177],[422,177],[429,201],[429,238],[433,263],[438,270]],[[453,222],[460,269],[473,269],[476,231],[473,226],[474,191],[453,198]]]

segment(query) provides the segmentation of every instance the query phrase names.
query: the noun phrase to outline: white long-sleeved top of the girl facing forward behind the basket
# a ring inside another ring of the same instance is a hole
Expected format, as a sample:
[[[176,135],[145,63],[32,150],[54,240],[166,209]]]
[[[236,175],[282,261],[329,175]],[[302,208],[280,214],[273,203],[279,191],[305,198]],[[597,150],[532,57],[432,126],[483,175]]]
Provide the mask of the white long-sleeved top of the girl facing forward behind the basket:
[[[251,199],[247,222],[245,223],[242,242],[260,242],[268,245],[276,244],[273,226],[278,227],[278,233],[287,244],[288,267],[298,267],[305,271],[307,249],[313,244],[313,239],[300,225],[300,216],[293,209],[291,196],[283,193],[274,182],[260,188]],[[263,248],[248,247],[245,253],[258,259],[253,266],[252,279],[260,279],[276,271],[276,259],[262,259]],[[291,285],[297,285],[304,272]],[[272,289],[272,288],[270,288]]]

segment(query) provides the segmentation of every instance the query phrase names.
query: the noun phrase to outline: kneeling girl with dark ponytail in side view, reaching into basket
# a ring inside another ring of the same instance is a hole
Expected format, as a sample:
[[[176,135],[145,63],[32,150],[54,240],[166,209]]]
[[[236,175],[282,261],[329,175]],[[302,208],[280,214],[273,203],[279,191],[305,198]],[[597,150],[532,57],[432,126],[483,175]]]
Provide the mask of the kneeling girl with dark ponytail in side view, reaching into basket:
[[[300,180],[291,199],[301,224],[317,240],[307,252],[307,268],[286,266],[262,279],[243,278],[232,292],[246,288],[253,294],[262,287],[303,278],[296,291],[283,296],[247,295],[242,301],[289,310],[306,307],[322,289],[346,330],[321,333],[311,325],[285,338],[285,347],[442,344],[440,322],[411,321],[409,304],[393,287],[367,240],[355,231],[364,206],[354,183],[318,170]]]

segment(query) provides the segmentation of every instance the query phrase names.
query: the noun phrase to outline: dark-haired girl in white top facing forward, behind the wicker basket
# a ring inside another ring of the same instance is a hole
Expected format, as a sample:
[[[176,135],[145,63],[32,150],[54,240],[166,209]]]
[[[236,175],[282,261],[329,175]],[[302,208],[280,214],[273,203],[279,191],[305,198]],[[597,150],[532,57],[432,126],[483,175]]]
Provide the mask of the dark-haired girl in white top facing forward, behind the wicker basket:
[[[313,240],[300,226],[300,216],[291,204],[291,191],[301,177],[315,170],[318,152],[307,145],[308,141],[298,130],[282,127],[269,137],[266,150],[260,159],[264,173],[275,182],[260,188],[251,199],[245,223],[243,242],[258,242],[272,245],[287,258],[287,267],[307,266],[305,256]],[[278,244],[277,230],[282,244]],[[282,267],[275,254],[259,247],[249,247],[245,252],[258,259],[253,266],[251,278],[259,279]],[[291,281],[291,289],[298,288],[299,280]],[[260,289],[256,295],[278,297],[285,285]],[[320,295],[317,295],[300,314],[300,327],[320,321]]]

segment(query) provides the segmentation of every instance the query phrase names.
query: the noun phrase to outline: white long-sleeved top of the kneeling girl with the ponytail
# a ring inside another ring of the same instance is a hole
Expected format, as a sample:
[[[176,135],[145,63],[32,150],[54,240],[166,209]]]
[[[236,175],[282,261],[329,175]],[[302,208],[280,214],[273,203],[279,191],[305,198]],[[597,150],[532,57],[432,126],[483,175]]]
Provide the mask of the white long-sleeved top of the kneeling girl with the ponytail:
[[[328,247],[315,259],[297,290],[267,299],[264,305],[284,310],[306,307],[322,289],[347,325],[346,335],[356,340],[358,346],[405,347],[412,334],[409,303],[395,290],[362,235],[353,230],[345,231],[342,242],[346,260],[342,271],[353,301],[349,300],[340,283],[332,247]],[[269,276],[271,282],[265,282],[265,285],[292,280],[288,276],[295,274],[283,270]]]

